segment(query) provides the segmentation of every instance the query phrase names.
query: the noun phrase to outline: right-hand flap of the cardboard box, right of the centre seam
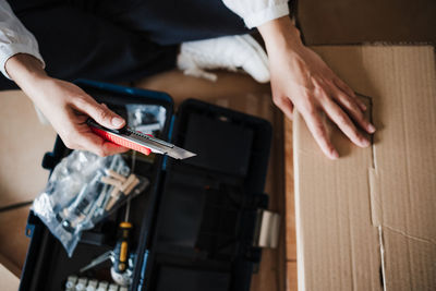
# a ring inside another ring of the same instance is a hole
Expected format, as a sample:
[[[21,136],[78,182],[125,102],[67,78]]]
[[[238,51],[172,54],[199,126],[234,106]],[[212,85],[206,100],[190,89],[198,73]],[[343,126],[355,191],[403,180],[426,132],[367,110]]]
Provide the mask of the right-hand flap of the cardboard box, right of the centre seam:
[[[373,70],[374,189],[385,245],[386,289],[423,290],[436,280],[436,74],[432,47],[363,53]],[[385,82],[383,84],[383,82]],[[429,276],[429,277],[427,277]],[[432,279],[431,279],[432,278]],[[432,288],[431,288],[432,289]]]

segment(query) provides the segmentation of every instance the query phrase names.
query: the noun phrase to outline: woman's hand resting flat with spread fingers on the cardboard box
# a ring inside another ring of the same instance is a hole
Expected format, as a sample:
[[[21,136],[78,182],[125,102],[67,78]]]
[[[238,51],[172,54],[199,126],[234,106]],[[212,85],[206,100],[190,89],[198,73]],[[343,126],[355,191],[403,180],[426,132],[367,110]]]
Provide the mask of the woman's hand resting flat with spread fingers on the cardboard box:
[[[358,146],[370,141],[354,123],[367,133],[375,128],[365,118],[365,105],[317,56],[300,40],[300,34],[288,16],[258,27],[268,51],[274,102],[292,118],[293,108],[302,114],[315,141],[330,159],[339,157],[320,114],[326,113]],[[354,121],[354,122],[353,122]]]

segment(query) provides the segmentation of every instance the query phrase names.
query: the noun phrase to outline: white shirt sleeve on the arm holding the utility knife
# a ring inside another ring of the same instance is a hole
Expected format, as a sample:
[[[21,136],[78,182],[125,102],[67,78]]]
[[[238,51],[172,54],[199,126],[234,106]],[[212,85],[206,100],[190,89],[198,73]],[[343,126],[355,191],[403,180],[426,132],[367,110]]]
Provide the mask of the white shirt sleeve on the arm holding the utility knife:
[[[16,53],[32,54],[40,60],[44,66],[46,65],[34,35],[14,15],[8,2],[0,0],[0,71],[8,78],[11,77],[4,69],[4,64]]]

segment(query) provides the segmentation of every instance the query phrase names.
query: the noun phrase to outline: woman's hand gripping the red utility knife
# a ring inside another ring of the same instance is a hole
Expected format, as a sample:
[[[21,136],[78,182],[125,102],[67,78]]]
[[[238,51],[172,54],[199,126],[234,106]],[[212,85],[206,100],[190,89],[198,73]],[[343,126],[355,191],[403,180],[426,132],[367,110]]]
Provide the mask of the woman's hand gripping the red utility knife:
[[[100,105],[76,85],[47,76],[40,62],[29,54],[15,54],[7,62],[8,74],[43,111],[66,147],[99,156],[128,150],[94,134],[88,117],[97,123],[120,129],[125,121]]]

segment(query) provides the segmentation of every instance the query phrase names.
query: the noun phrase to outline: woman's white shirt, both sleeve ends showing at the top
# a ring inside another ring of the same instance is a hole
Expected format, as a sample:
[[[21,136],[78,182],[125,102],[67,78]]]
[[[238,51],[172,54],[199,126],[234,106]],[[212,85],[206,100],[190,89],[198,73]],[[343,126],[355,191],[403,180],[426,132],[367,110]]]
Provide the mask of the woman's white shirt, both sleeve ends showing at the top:
[[[222,0],[222,2],[241,16],[249,28],[289,14],[288,0]],[[4,64],[16,53],[32,54],[45,65],[34,35],[14,15],[8,2],[0,0],[0,71],[8,78],[10,76]]]

